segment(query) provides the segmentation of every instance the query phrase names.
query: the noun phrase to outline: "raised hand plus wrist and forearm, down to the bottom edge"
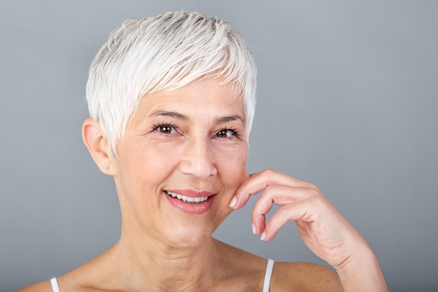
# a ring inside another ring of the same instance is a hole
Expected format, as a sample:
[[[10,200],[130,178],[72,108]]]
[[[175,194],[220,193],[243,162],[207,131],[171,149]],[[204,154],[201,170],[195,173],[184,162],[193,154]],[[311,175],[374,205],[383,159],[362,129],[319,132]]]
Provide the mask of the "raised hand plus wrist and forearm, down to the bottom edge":
[[[287,221],[295,221],[299,235],[313,253],[338,272],[344,291],[388,292],[385,279],[365,239],[311,183],[266,169],[241,183],[230,203],[240,209],[250,195],[263,191],[253,209],[253,232],[262,240],[275,237]],[[274,204],[281,207],[266,224]]]

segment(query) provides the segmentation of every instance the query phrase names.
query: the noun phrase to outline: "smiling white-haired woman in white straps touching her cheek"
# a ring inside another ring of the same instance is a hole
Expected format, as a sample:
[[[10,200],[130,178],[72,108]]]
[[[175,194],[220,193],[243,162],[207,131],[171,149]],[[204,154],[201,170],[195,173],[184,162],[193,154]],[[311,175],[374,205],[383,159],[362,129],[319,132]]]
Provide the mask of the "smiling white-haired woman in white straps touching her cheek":
[[[318,188],[267,169],[249,175],[255,64],[218,18],[129,20],[92,62],[83,139],[113,176],[120,240],[76,270],[20,291],[388,291],[367,242]],[[253,232],[287,221],[337,273],[273,263],[213,239],[250,195]],[[282,207],[265,223],[273,204]]]

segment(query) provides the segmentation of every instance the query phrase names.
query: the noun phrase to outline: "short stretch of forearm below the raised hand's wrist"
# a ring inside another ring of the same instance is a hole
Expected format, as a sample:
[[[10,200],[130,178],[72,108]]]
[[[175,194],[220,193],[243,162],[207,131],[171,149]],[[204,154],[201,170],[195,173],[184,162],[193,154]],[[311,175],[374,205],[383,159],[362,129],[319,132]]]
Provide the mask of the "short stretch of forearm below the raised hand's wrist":
[[[369,247],[337,267],[344,292],[388,292],[376,256]]]

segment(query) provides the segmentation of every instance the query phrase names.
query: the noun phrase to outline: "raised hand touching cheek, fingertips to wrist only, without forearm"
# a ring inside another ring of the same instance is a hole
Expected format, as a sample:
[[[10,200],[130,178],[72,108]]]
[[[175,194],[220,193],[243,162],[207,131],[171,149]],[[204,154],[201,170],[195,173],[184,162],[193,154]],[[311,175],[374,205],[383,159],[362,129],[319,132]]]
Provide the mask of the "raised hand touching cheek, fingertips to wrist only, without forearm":
[[[287,221],[295,221],[304,244],[337,269],[363,247],[369,248],[365,239],[316,186],[272,169],[251,174],[236,190],[236,197],[230,205],[233,209],[240,209],[250,195],[261,191],[252,220],[253,232],[261,234],[262,240],[274,238]],[[266,224],[265,215],[274,204],[281,207]]]

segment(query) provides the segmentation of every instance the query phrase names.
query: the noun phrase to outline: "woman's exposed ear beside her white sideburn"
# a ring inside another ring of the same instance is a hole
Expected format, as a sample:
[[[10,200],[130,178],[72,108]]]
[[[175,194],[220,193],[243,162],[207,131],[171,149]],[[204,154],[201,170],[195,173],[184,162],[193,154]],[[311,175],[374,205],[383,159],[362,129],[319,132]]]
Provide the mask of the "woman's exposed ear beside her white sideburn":
[[[115,163],[109,151],[108,140],[96,120],[92,118],[84,120],[82,139],[100,171],[104,174],[114,175]]]

